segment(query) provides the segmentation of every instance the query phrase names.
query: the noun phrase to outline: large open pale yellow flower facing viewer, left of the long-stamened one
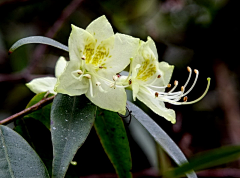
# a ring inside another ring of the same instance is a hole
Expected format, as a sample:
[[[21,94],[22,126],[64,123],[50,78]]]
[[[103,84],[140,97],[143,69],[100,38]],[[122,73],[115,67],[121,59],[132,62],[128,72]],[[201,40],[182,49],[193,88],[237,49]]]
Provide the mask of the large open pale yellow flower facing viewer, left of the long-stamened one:
[[[97,106],[125,114],[126,92],[117,84],[117,73],[130,63],[139,39],[114,34],[105,16],[86,30],[72,25],[69,37],[70,61],[59,77],[55,91],[70,96],[85,94]]]

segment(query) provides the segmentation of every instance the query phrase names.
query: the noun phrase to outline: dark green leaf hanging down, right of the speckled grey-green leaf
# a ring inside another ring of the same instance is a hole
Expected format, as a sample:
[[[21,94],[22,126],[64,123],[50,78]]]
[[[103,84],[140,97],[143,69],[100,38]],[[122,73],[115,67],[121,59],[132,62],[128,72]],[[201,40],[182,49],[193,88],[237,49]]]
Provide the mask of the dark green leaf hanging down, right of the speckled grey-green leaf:
[[[131,178],[131,153],[122,118],[98,108],[94,127],[119,178]]]

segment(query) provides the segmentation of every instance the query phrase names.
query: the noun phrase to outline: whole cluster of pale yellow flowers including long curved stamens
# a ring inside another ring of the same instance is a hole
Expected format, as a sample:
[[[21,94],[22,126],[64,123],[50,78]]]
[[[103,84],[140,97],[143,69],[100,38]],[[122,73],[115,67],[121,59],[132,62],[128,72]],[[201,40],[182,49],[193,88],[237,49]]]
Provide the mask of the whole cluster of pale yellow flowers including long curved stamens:
[[[155,113],[175,123],[175,112],[167,109],[164,102],[172,104],[191,104],[199,101],[207,92],[195,101],[187,102],[186,95],[194,84],[185,92],[192,74],[180,91],[175,92],[178,82],[171,87],[169,81],[174,66],[158,62],[154,41],[148,37],[146,42],[128,35],[116,33],[106,19],[101,16],[94,20],[86,30],[72,25],[69,37],[70,61],[60,57],[56,64],[54,77],[34,79],[27,86],[35,93],[50,91],[70,96],[85,94],[100,108],[125,114],[127,96],[125,89],[131,89],[133,99],[150,107]],[[130,64],[128,76],[120,76]],[[210,79],[208,79],[209,81]],[[179,100],[183,98],[183,102]]]

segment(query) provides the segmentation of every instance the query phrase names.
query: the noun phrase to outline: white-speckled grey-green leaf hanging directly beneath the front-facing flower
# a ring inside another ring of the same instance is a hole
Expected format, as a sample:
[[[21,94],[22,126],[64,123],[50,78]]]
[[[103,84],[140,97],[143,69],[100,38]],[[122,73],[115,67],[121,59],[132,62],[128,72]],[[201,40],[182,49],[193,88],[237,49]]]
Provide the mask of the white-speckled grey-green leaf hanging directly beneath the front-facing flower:
[[[93,126],[96,110],[85,95],[56,95],[51,111],[53,178],[63,178],[66,174]]]

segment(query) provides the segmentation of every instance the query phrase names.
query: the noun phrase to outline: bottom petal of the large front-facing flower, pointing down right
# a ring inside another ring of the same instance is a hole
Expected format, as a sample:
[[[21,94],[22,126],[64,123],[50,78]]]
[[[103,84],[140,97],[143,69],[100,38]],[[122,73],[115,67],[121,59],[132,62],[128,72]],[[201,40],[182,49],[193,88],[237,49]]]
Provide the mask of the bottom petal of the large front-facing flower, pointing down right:
[[[107,91],[101,92],[96,86],[96,82],[101,82],[101,87]],[[110,111],[118,112],[125,115],[126,113],[126,102],[127,95],[123,88],[110,88],[105,85],[104,82],[98,78],[92,76],[92,86],[93,86],[93,97],[90,94],[90,90],[86,93],[86,96],[95,105],[100,108],[107,109]]]

